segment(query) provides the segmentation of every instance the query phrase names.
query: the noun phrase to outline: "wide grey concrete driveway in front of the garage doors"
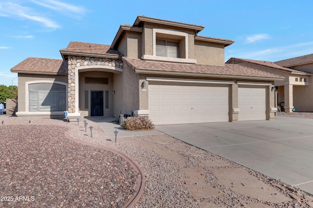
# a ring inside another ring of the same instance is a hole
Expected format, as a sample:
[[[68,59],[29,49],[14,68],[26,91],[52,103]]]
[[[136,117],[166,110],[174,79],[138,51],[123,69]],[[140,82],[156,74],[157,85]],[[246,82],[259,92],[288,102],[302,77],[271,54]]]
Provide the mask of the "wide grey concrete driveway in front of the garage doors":
[[[277,116],[156,129],[313,194],[313,119]]]

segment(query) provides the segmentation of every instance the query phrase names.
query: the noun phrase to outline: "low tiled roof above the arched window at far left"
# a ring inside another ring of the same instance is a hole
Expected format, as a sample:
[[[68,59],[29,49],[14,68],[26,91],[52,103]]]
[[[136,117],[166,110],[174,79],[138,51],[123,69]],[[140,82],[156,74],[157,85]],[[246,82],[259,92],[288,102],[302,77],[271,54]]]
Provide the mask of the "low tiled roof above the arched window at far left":
[[[62,59],[27,58],[11,68],[11,72],[31,74],[67,74],[67,62]]]

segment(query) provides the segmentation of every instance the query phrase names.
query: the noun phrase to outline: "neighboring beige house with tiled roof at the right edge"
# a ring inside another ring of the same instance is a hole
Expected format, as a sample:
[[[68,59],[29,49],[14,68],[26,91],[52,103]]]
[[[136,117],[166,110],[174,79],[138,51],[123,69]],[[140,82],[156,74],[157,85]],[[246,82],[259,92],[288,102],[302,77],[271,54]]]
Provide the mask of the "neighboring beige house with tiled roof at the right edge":
[[[309,56],[309,58],[308,58]],[[226,63],[240,64],[265,72],[285,77],[283,81],[275,81],[276,104],[284,103],[285,111],[313,111],[313,54],[282,60],[266,62],[231,58]]]

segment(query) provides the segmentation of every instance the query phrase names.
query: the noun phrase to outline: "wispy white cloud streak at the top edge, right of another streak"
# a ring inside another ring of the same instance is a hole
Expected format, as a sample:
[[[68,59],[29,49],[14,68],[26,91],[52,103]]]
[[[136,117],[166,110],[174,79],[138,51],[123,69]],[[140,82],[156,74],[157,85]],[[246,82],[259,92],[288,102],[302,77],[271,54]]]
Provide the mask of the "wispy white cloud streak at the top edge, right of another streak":
[[[76,19],[81,19],[81,16],[87,12],[87,9],[81,6],[74,6],[68,3],[56,1],[56,0],[31,0],[40,6],[46,7],[48,9],[55,10],[63,15],[69,15]]]

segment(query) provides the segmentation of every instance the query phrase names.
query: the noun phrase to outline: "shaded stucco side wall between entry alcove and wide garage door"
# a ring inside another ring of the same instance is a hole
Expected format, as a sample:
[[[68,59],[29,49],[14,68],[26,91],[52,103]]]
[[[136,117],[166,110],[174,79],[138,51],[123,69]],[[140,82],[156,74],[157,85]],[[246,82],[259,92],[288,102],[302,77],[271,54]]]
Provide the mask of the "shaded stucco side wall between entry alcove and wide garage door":
[[[114,74],[113,95],[114,115],[128,114],[139,109],[139,75],[127,64],[123,64],[123,73]]]

